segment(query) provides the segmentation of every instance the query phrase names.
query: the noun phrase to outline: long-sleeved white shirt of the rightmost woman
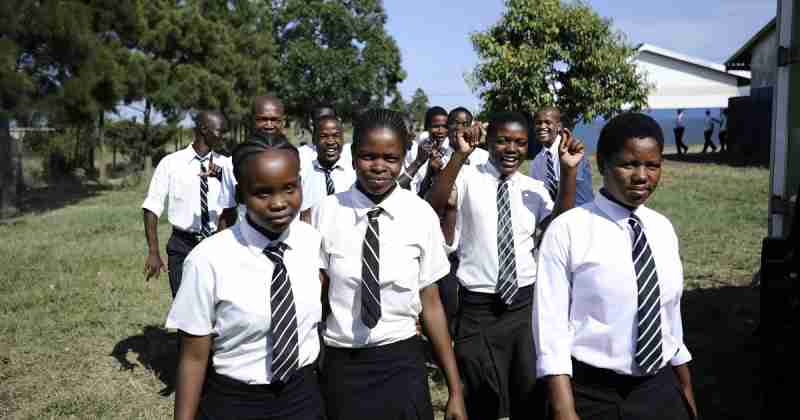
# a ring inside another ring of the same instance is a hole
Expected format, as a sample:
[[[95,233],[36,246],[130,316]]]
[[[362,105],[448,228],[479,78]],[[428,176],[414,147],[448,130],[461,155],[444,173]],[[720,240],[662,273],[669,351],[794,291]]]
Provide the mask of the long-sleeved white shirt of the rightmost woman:
[[[683,269],[669,220],[640,206],[661,295],[663,364],[692,359],[683,343]],[[536,374],[572,375],[574,357],[623,375],[642,375],[634,360],[638,289],[631,258],[630,211],[597,194],[556,218],[539,250],[533,310]]]

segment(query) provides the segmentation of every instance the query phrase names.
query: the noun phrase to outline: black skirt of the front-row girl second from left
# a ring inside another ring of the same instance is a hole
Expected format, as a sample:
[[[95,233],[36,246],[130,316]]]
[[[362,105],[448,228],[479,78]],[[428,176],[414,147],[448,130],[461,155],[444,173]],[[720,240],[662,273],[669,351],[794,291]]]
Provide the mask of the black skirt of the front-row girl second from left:
[[[330,420],[433,420],[416,336],[379,347],[327,346],[321,385]]]

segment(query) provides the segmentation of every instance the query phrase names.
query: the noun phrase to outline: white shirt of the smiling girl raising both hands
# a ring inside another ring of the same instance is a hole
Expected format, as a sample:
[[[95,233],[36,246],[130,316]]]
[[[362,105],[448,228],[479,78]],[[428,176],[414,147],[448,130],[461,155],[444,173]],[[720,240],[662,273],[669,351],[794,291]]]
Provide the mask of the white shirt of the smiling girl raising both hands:
[[[463,166],[456,178],[458,194],[456,235],[458,280],[467,290],[497,293],[497,187],[500,173],[491,162]],[[517,285],[536,280],[533,234],[536,225],[553,211],[553,201],[541,181],[519,172],[509,178],[511,224],[514,231]]]

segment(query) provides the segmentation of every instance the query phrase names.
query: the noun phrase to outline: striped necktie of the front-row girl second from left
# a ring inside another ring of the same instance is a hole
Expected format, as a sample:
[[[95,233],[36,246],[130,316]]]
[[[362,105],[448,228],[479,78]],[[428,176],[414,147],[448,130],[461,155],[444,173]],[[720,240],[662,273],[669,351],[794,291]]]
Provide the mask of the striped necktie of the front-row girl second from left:
[[[361,248],[361,321],[370,329],[381,318],[380,241],[378,216],[383,209],[376,207],[367,212],[367,232]]]

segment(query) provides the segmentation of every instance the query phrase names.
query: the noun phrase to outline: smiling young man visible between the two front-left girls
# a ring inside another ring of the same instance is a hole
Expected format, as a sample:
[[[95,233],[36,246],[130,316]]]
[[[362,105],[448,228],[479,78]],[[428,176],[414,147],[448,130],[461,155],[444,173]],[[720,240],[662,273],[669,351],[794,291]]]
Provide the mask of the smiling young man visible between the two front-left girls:
[[[300,211],[306,221],[310,220],[312,207],[328,195],[348,190],[356,180],[353,162],[342,158],[344,138],[339,120],[331,116],[319,118],[313,135],[317,158],[302,174],[303,205]]]

